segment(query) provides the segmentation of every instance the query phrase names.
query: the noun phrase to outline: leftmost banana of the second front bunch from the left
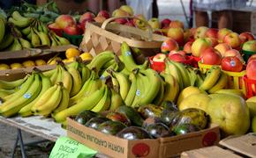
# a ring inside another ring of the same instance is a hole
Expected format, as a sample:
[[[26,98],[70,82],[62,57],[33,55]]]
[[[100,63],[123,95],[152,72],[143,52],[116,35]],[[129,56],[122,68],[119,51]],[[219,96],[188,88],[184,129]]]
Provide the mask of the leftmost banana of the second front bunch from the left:
[[[31,107],[32,113],[34,113],[38,107],[42,106],[43,104],[49,101],[49,98],[53,96],[57,87],[58,87],[57,84],[54,84],[48,90],[45,90],[44,93],[42,93],[41,97],[39,97],[37,101],[32,105]]]

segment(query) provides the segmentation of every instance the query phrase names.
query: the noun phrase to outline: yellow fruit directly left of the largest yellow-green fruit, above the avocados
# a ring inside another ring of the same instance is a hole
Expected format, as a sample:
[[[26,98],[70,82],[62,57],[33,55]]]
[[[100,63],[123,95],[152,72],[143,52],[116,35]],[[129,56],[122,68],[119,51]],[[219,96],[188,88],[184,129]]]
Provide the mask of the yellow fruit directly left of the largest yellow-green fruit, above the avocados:
[[[189,97],[185,97],[184,100],[178,105],[180,111],[188,108],[197,108],[203,111],[207,111],[207,104],[211,100],[211,97],[208,97],[204,93],[192,94]]]

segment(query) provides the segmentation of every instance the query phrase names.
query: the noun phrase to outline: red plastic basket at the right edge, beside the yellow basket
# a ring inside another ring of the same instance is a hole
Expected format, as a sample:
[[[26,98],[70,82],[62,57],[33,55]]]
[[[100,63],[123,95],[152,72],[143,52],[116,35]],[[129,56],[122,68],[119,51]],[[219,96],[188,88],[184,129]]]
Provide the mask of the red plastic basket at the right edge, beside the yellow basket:
[[[256,80],[249,79],[247,75],[244,75],[243,79],[245,82],[246,97],[250,98],[256,96]]]

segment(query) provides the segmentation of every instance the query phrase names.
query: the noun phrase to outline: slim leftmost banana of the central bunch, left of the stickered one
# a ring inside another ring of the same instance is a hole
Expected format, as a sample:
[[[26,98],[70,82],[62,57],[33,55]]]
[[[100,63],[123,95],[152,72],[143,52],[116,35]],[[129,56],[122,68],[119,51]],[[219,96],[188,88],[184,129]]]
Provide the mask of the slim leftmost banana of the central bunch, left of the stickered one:
[[[137,91],[137,80],[136,80],[136,76],[131,73],[129,75],[129,79],[131,80],[131,87],[130,87],[130,90],[127,94],[127,96],[125,97],[124,99],[124,104],[127,105],[127,106],[131,106],[132,105],[132,101],[136,95],[136,91]]]

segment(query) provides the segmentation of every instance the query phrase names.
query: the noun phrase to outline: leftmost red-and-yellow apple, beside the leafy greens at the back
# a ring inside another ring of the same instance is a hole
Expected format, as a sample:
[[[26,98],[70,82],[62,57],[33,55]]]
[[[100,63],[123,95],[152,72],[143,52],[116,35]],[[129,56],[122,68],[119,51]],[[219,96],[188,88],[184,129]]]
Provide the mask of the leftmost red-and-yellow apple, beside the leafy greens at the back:
[[[76,21],[72,18],[71,15],[60,15],[55,20],[56,25],[58,25],[61,29],[69,25],[76,25]]]

